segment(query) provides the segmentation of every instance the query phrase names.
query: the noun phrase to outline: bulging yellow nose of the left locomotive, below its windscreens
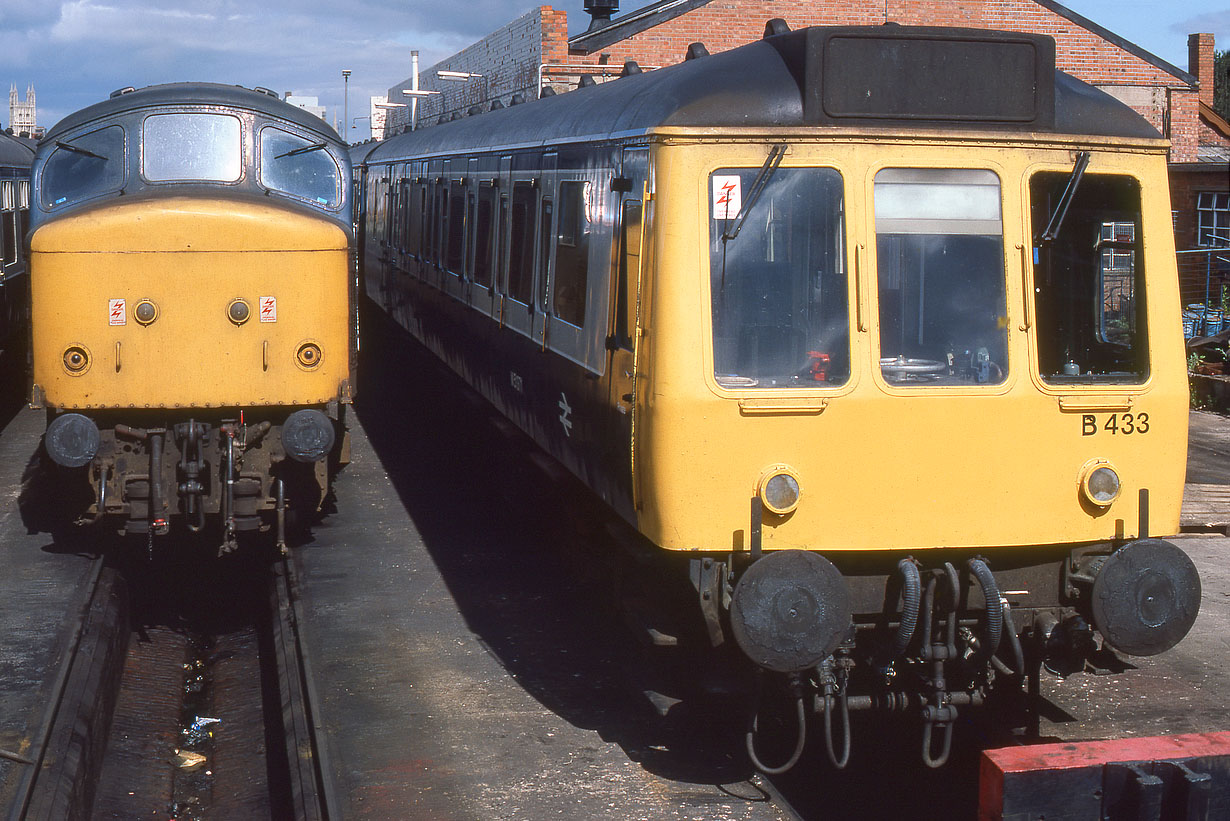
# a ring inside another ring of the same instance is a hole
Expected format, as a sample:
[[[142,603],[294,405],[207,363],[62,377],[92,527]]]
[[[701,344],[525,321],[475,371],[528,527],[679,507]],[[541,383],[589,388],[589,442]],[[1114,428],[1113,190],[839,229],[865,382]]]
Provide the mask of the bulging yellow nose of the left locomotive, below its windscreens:
[[[31,242],[34,384],[50,405],[310,405],[348,380],[348,357],[323,356],[348,340],[348,239],[333,223],[276,203],[133,199],[65,214]],[[187,370],[186,345],[208,353]]]

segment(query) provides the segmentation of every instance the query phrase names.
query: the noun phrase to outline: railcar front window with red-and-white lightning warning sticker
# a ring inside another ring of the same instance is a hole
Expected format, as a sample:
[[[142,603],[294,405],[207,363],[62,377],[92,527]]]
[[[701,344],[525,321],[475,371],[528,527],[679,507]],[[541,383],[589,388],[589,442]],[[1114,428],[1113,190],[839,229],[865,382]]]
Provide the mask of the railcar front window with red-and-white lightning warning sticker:
[[[827,388],[847,382],[841,175],[774,171],[768,162],[718,169],[710,176],[708,204],[717,384]]]

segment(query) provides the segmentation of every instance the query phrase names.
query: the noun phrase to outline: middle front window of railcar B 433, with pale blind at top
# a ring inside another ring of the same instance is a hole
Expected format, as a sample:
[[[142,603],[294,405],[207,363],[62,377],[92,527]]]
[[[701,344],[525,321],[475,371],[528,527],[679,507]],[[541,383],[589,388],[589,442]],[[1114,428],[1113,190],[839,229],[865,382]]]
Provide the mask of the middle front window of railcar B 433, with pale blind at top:
[[[898,386],[1000,384],[1007,298],[993,171],[876,175],[879,369]]]

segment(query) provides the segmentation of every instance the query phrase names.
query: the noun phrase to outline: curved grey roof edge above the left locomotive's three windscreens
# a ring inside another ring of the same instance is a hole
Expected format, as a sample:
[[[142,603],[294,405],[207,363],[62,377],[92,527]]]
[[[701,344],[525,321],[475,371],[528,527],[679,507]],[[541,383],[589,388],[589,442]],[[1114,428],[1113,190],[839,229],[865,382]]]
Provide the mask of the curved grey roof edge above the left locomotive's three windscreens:
[[[245,108],[301,126],[320,137],[327,138],[330,142],[342,142],[337,132],[328,123],[299,106],[292,106],[289,102],[279,100],[276,95],[264,94],[263,91],[253,91],[237,85],[221,85],[218,82],[167,82],[117,94],[108,100],[96,102],[76,113],[69,114],[55,123],[47,132],[47,135],[43,137],[43,142],[54,140],[68,130],[97,119],[109,119],[130,111],[164,106],[226,106]]]

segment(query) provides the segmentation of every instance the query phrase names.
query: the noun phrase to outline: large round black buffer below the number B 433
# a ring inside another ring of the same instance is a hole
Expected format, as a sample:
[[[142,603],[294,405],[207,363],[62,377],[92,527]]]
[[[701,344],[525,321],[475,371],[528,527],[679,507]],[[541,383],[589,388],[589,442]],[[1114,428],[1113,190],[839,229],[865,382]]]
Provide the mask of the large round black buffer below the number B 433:
[[[1112,553],[1093,579],[1093,627],[1130,656],[1155,656],[1178,644],[1200,609],[1200,577],[1186,553],[1162,539],[1140,539]]]

